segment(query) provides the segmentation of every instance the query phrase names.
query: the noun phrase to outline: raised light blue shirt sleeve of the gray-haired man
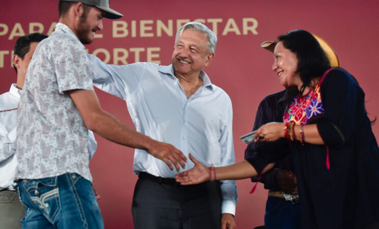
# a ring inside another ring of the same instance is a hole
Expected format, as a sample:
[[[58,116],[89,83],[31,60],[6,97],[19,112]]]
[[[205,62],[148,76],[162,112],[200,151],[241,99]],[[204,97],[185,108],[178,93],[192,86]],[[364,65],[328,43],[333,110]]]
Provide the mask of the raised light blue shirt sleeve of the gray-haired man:
[[[136,91],[145,75],[145,68],[149,67],[149,63],[109,65],[94,55],[87,54],[87,56],[95,87],[123,100]]]

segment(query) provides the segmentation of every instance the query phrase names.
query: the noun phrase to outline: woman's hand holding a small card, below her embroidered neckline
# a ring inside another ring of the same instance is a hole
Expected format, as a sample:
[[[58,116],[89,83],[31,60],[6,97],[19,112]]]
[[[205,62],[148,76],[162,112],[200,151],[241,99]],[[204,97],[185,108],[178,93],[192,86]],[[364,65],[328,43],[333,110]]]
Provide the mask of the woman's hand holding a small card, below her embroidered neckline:
[[[284,137],[284,123],[268,123],[261,126],[254,134],[254,141],[276,141]]]

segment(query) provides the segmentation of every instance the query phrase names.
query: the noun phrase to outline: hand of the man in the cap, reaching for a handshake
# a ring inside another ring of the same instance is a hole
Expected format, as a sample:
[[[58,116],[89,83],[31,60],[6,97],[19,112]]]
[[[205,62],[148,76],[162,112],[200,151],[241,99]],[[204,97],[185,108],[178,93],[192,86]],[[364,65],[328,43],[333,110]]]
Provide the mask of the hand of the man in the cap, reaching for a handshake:
[[[151,145],[150,149],[151,150],[148,152],[154,157],[164,161],[171,170],[173,170],[172,164],[175,166],[177,171],[180,170],[179,164],[182,166],[182,168],[186,167],[186,164],[184,162],[187,162],[187,157],[184,156],[182,151],[178,150],[174,146],[165,142],[153,140],[153,144]]]

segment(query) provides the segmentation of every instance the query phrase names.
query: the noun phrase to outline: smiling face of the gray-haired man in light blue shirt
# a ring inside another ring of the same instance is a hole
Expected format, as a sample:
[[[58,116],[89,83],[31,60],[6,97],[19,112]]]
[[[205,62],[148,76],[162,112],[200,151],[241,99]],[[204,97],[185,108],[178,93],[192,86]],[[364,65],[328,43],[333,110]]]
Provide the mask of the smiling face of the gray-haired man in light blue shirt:
[[[178,36],[172,53],[174,73],[198,76],[201,69],[208,66],[215,55],[214,53],[208,54],[207,44],[207,35],[191,29],[183,31]]]

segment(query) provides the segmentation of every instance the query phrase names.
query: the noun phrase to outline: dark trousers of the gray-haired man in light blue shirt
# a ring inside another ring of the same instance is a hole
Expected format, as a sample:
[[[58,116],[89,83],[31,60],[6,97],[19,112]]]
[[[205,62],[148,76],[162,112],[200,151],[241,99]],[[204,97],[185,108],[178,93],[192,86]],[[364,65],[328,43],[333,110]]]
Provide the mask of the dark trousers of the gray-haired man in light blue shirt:
[[[174,179],[143,175],[133,195],[135,229],[221,228],[219,182],[182,186]]]

